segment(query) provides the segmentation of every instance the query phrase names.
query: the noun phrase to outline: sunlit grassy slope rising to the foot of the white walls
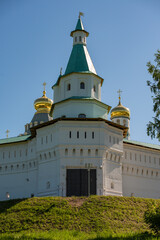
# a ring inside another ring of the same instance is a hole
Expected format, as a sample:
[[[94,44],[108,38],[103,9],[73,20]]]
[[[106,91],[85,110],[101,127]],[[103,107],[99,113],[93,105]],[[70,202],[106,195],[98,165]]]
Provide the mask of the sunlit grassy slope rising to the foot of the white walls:
[[[159,205],[160,200],[112,196],[9,200],[0,202],[0,233],[54,229],[109,234],[151,233],[143,217],[153,204]]]

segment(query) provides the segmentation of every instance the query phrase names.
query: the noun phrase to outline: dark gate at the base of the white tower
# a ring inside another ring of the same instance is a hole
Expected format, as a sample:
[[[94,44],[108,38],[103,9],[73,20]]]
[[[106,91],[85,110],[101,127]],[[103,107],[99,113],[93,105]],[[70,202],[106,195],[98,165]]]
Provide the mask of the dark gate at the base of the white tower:
[[[88,181],[90,179],[90,181]],[[96,194],[96,169],[67,169],[67,196],[88,196]]]

